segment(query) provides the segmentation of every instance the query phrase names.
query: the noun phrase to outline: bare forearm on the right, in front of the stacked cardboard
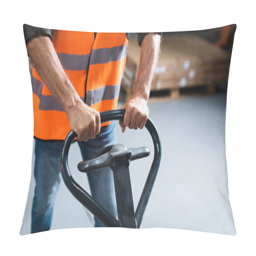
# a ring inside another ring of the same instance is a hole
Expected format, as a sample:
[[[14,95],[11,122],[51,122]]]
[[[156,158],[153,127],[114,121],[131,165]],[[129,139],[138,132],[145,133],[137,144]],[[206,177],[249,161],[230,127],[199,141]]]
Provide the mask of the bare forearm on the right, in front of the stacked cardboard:
[[[148,100],[150,85],[155,72],[160,52],[161,36],[154,33],[147,34],[141,44],[140,64],[133,96],[140,96]]]

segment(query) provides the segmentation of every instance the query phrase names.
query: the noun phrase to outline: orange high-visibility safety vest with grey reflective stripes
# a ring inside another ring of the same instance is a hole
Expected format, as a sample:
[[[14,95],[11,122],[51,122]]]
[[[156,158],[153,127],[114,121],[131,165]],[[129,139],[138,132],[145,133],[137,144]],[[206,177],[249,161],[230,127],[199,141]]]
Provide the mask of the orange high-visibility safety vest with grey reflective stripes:
[[[126,33],[95,37],[91,32],[54,30],[52,43],[80,98],[99,112],[116,109],[126,62]],[[34,67],[32,91],[34,137],[64,140],[71,129],[68,117]]]

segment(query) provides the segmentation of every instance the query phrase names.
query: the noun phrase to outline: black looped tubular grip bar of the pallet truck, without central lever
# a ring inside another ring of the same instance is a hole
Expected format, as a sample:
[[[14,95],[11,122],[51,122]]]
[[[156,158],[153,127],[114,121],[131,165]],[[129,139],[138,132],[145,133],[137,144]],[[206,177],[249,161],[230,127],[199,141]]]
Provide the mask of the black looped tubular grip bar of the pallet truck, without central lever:
[[[101,123],[104,123],[111,120],[123,120],[124,113],[124,109],[105,111],[100,113],[100,121]],[[145,127],[148,129],[148,132],[151,135],[154,143],[155,152],[154,159],[148,173],[148,178],[146,180],[145,186],[140,196],[140,201],[135,212],[137,228],[140,228],[140,224],[146,206],[148,204],[149,196],[151,194],[153,184],[156,179],[156,174],[158,172],[162,155],[160,137],[156,130],[156,126],[153,124],[150,118],[148,118]],[[77,134],[73,130],[71,130],[62,145],[60,155],[60,168],[64,183],[68,187],[69,191],[73,194],[73,196],[75,196],[76,199],[80,201],[80,203],[82,203],[90,212],[92,212],[94,216],[100,219],[101,222],[104,223],[107,227],[121,227],[121,223],[116,220],[105,208],[103,208],[92,196],[90,196],[79,184],[77,184],[70,174],[68,168],[68,151],[71,143],[76,138],[76,136]]]

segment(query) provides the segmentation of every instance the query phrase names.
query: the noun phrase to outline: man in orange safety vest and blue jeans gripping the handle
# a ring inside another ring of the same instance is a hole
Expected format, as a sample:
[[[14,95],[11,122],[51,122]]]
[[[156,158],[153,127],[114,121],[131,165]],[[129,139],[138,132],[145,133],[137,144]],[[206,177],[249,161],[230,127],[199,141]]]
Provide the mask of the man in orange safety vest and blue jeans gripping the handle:
[[[60,185],[60,151],[70,129],[77,134],[83,160],[116,144],[115,122],[100,123],[100,112],[117,109],[124,74],[128,33],[91,33],[23,26],[33,62],[35,194],[31,233],[49,230]],[[148,118],[150,84],[161,33],[138,33],[140,64],[131,98],[121,107],[126,127],[142,129]],[[117,216],[113,173],[87,173],[91,195]],[[95,227],[104,227],[97,218]]]

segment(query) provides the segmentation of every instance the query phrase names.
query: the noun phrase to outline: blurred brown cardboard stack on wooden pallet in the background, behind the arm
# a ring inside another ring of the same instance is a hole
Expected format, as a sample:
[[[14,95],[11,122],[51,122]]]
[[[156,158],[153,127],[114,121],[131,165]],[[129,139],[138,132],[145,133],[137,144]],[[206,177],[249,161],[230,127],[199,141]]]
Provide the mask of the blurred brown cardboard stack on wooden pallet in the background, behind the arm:
[[[151,91],[228,82],[231,55],[196,36],[163,36]],[[129,40],[122,87],[130,95],[140,60],[137,38]]]

